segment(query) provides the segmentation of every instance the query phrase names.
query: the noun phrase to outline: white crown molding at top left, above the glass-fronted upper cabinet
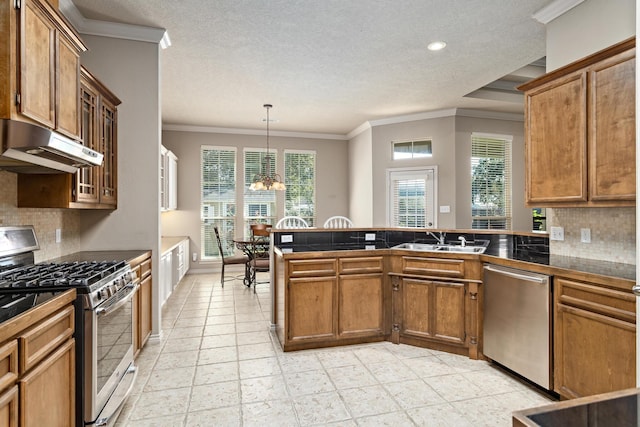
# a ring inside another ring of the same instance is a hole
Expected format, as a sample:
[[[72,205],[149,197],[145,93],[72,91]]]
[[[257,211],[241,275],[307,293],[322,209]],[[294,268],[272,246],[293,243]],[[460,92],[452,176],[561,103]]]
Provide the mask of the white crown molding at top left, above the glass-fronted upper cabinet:
[[[59,8],[81,34],[157,43],[163,49],[171,46],[169,33],[164,28],[88,19],[80,13],[71,0],[60,0]]]

